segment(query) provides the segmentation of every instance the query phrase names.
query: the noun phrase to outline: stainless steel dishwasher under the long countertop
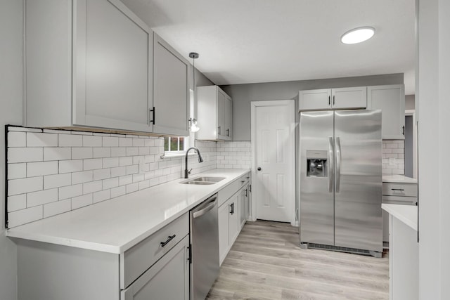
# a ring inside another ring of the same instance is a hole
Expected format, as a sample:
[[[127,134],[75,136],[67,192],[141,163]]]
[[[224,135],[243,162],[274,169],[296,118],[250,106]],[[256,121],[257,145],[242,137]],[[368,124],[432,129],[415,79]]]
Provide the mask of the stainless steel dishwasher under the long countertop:
[[[191,210],[191,300],[206,298],[219,275],[217,194]]]

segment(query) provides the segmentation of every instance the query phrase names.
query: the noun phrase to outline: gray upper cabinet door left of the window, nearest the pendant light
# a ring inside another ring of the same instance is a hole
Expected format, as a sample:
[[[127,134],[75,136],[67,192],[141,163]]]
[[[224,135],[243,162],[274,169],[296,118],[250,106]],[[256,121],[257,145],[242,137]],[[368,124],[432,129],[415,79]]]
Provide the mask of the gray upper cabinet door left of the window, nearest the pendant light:
[[[188,61],[158,34],[154,36],[153,132],[188,136]]]

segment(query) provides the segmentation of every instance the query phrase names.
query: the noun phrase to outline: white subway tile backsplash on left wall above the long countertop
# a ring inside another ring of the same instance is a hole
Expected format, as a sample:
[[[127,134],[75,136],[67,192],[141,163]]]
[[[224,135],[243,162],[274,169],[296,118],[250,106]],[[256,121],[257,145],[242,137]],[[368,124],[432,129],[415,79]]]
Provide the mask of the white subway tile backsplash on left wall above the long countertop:
[[[183,176],[184,157],[160,158],[164,154],[163,138],[14,129],[9,129],[7,136],[8,216],[17,211],[23,213],[12,216],[10,227]],[[30,145],[39,147],[30,147],[27,139]],[[195,145],[200,148],[205,162],[199,164],[195,155],[190,157],[192,174],[214,169],[217,166],[216,143],[196,141]],[[234,154],[235,160],[246,155],[243,149],[233,150],[239,150]]]

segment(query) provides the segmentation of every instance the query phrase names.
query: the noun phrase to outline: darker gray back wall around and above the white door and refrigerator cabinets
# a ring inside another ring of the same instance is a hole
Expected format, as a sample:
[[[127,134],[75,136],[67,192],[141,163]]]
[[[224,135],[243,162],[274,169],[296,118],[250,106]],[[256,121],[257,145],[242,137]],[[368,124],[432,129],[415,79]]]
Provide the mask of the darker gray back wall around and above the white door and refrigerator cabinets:
[[[233,98],[233,141],[250,141],[250,101],[293,99],[297,96],[298,91],[307,89],[383,84],[403,84],[403,74],[236,84],[222,86],[222,89]],[[297,103],[295,105],[297,107]]]

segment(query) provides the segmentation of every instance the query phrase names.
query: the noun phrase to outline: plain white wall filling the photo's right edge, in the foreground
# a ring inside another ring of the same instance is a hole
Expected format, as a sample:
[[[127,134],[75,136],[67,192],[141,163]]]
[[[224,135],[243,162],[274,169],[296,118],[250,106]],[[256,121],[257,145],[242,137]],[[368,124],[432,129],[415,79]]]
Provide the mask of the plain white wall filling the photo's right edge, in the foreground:
[[[450,1],[416,4],[419,294],[423,300],[450,299]]]

